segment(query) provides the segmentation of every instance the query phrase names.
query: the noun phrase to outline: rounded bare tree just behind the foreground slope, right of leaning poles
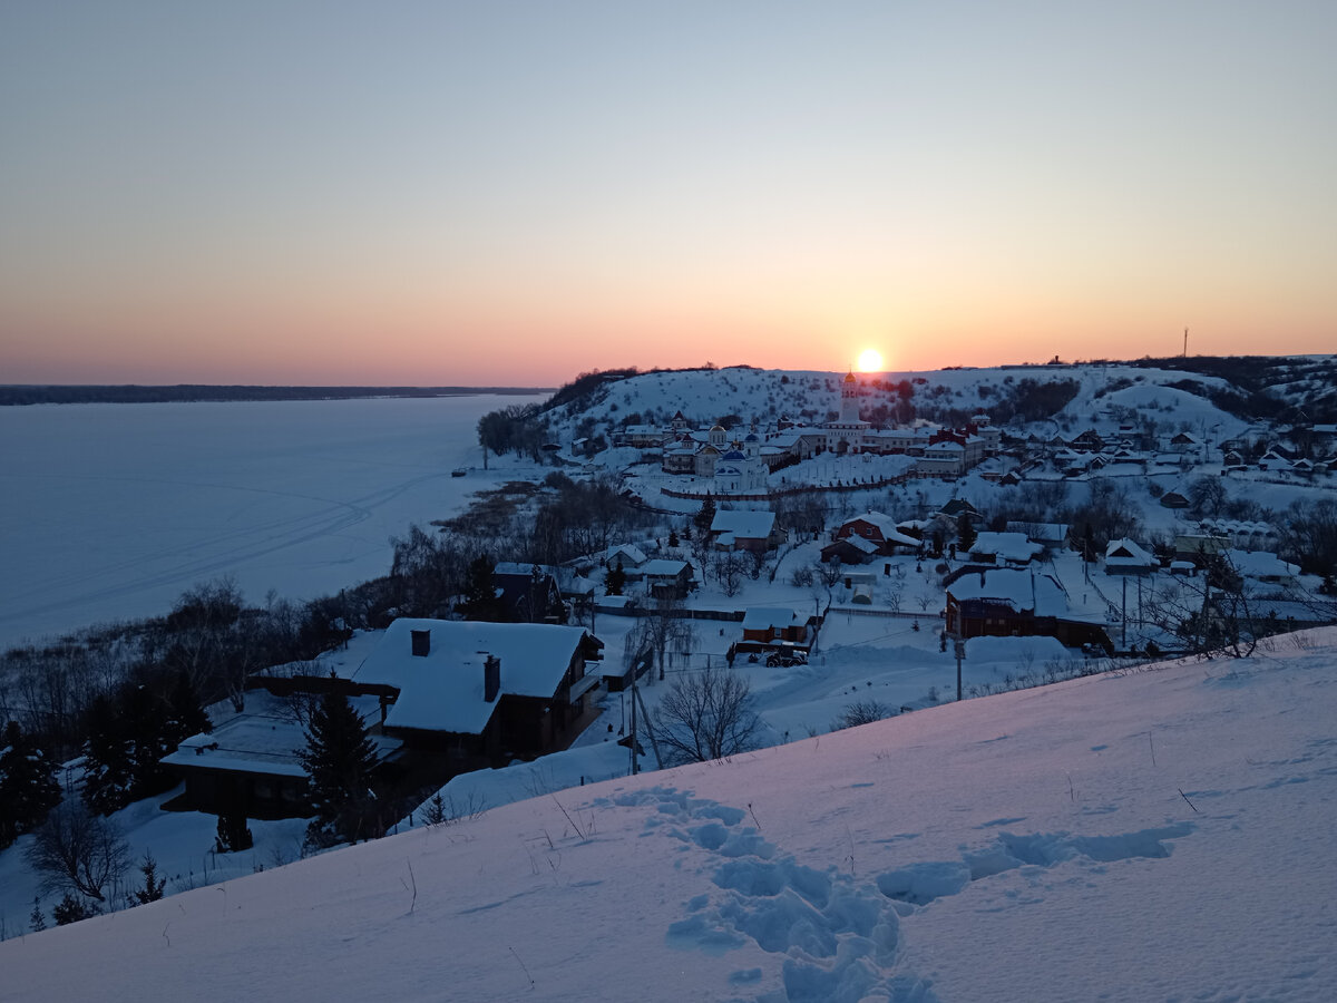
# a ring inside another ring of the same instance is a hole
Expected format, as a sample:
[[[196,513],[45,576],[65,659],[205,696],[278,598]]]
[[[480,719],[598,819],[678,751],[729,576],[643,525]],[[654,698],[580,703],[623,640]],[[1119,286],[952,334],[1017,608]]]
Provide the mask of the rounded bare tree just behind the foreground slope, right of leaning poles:
[[[706,667],[674,683],[655,707],[655,737],[664,762],[709,762],[754,749],[762,721],[746,677]]]

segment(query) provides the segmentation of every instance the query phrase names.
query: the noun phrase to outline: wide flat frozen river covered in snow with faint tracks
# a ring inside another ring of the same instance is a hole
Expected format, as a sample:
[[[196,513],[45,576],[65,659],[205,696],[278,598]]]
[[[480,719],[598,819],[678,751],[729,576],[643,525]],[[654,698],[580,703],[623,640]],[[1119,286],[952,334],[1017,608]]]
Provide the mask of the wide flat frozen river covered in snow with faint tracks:
[[[0,408],[0,647],[221,575],[255,603],[382,575],[390,536],[503,476],[479,417],[544,396]]]

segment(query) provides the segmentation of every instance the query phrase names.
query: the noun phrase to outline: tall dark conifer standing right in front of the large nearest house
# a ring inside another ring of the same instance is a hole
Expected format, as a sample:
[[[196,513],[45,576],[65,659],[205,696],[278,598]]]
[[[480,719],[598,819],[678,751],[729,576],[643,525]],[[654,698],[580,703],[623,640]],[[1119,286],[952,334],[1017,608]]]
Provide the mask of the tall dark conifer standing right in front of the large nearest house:
[[[370,837],[376,748],[346,697],[338,693],[321,697],[306,729],[306,749],[298,750],[298,758],[310,774],[316,809],[308,841],[328,847]]]

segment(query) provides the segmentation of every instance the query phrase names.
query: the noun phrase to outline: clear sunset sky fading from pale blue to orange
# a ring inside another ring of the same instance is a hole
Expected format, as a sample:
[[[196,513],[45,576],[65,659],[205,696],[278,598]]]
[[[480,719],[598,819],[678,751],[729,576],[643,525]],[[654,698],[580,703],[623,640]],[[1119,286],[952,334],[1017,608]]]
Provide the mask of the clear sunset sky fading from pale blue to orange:
[[[1337,4],[0,4],[0,382],[1337,350]]]

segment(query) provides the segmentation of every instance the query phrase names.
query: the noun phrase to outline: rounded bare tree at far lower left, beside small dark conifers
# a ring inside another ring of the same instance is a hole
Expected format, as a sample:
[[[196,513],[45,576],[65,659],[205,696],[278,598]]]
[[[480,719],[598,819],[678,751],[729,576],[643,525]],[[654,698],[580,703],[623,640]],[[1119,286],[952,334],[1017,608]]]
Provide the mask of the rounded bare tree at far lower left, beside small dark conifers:
[[[43,893],[78,892],[100,903],[130,867],[130,848],[115,822],[70,801],[37,829],[27,860],[41,875]]]

